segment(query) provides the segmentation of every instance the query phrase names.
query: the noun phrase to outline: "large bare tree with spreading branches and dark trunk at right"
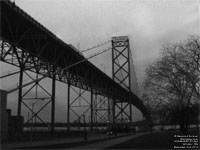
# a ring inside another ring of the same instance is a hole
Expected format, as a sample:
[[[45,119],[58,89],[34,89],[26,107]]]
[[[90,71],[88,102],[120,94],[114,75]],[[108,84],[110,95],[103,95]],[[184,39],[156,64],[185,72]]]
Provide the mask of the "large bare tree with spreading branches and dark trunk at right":
[[[161,58],[146,73],[145,88],[178,109],[180,128],[187,132],[189,107],[200,99],[200,37],[164,46]]]

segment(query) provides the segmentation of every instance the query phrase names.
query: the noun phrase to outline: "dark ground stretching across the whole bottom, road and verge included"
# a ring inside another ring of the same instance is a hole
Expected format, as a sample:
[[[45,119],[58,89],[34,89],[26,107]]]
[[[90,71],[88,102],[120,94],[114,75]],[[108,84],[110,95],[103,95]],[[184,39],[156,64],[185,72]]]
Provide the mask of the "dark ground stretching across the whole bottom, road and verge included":
[[[46,141],[21,141],[3,145],[3,149],[174,149],[177,143],[175,135],[184,135],[180,131],[156,131],[138,133],[118,133],[117,136],[93,134],[85,141],[83,136],[71,138],[46,139]],[[188,135],[199,139],[197,130],[190,130]],[[185,136],[185,135],[184,135]],[[180,139],[180,138],[179,138]],[[197,140],[198,140],[197,139]],[[199,145],[199,141],[198,141]],[[178,146],[178,145],[176,145]]]

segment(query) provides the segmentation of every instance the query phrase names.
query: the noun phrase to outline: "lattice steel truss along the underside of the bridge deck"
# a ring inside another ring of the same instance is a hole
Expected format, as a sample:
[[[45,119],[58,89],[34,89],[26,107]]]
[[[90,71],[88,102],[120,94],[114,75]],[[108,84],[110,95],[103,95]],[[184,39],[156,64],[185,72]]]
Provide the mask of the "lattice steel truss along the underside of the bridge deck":
[[[69,83],[72,86],[91,91],[91,87],[93,90],[98,94],[106,94],[112,95],[113,88],[105,86],[105,81],[95,80],[96,82],[91,83],[88,80],[85,80],[84,77],[79,76],[79,71],[75,70],[76,72],[71,73],[70,71],[63,70],[62,68],[58,67],[56,63],[49,62],[49,60],[44,60],[40,58],[40,51],[38,55],[31,54],[30,52],[26,52],[26,50],[22,50],[9,42],[6,42],[3,39],[0,39],[0,60],[6,62],[8,64],[14,65],[16,67],[24,67],[24,70],[29,70],[34,73],[38,73],[43,76],[47,76],[49,78],[53,78],[55,72],[53,71],[53,67],[56,67],[56,80]],[[20,66],[21,64],[24,64]],[[69,60],[66,60],[66,65],[69,64]],[[90,76],[90,72],[88,69],[84,69],[85,76]],[[91,77],[92,78],[92,77]],[[92,79],[91,79],[92,80]],[[120,93],[120,91],[116,92]],[[123,94],[119,94],[119,97],[123,97]]]

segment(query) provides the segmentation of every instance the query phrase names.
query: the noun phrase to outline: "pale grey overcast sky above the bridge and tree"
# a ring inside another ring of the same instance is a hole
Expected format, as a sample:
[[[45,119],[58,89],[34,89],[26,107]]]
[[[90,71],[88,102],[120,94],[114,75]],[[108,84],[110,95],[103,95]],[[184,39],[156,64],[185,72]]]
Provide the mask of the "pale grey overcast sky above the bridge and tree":
[[[146,67],[158,57],[163,44],[183,41],[190,35],[199,34],[199,2],[15,0],[16,5],[64,42],[77,48],[79,45],[81,50],[106,42],[113,36],[129,36],[140,87]],[[107,74],[111,74],[110,54],[99,56],[93,62],[101,69],[105,66]]]

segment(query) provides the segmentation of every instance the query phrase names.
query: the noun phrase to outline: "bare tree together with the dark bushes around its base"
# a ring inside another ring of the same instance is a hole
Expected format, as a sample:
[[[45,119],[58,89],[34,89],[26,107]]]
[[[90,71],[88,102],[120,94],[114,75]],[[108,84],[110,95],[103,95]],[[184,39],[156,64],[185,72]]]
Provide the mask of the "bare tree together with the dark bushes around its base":
[[[200,36],[161,48],[146,69],[142,99],[154,121],[179,124],[183,132],[199,122]]]

